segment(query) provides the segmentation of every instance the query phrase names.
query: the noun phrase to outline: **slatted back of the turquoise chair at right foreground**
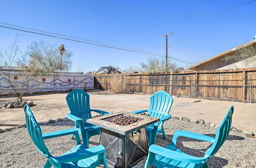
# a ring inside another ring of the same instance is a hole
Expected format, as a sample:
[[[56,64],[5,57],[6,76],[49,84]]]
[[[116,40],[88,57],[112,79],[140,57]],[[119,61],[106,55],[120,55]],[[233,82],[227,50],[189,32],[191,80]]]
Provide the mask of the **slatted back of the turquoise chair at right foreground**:
[[[220,127],[217,130],[214,143],[205,152],[205,156],[208,156],[208,159],[214,156],[218,152],[222,144],[225,142],[231,127],[233,109],[233,106],[229,108],[224,120],[222,121]]]

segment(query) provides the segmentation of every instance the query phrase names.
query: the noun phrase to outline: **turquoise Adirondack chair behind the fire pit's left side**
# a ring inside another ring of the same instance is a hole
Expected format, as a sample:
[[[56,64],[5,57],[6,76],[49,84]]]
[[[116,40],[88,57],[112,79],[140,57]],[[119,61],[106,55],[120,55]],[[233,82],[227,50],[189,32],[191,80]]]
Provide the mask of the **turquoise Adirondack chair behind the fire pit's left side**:
[[[67,117],[75,122],[75,129],[81,134],[82,143],[89,147],[89,138],[93,135],[100,134],[101,128],[87,123],[87,119],[91,119],[91,111],[102,115],[111,113],[90,108],[90,95],[80,89],[73,90],[66,97],[70,113]],[[74,136],[74,135],[73,135]],[[73,138],[73,136],[71,138]]]

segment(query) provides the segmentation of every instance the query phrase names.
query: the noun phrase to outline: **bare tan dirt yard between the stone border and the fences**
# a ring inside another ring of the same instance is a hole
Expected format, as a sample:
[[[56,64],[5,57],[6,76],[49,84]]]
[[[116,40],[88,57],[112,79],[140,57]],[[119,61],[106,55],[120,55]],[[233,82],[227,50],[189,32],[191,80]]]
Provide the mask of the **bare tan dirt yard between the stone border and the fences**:
[[[69,109],[66,103],[68,93],[37,94],[24,97],[24,100],[34,101],[36,106],[32,111],[38,122],[49,119],[65,118]],[[90,91],[90,105],[92,109],[110,112],[134,111],[148,109],[151,95],[113,94],[108,91]],[[200,100],[200,101],[198,101]],[[6,109],[3,104],[15,101],[15,98],[0,98],[0,128],[10,128],[25,123],[23,108]],[[196,102],[197,101],[197,102]],[[213,101],[204,99],[174,97],[170,109],[172,116],[203,119],[205,122],[220,124],[229,107],[234,106],[232,126],[241,130],[256,132],[256,104]]]

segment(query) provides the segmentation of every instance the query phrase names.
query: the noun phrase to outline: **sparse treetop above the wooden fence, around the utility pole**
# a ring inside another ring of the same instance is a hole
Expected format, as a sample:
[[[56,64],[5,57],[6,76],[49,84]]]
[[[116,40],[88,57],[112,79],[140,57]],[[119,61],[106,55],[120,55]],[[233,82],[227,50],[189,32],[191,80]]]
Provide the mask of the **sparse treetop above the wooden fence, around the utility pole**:
[[[147,62],[141,62],[140,67],[143,71],[146,72],[165,72],[165,60],[164,59],[157,59],[157,58],[150,58]],[[167,63],[167,71],[172,72],[176,70],[176,65],[171,63],[168,60]]]

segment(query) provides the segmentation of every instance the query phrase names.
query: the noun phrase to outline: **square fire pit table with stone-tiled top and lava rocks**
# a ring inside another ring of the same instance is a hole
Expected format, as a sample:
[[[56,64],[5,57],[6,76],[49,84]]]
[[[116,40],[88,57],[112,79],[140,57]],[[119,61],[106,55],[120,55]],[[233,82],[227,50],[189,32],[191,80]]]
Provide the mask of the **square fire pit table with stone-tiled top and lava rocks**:
[[[127,112],[87,120],[101,127],[100,145],[105,147],[106,160],[113,167],[131,167],[147,156],[145,127],[158,121],[157,118]]]

